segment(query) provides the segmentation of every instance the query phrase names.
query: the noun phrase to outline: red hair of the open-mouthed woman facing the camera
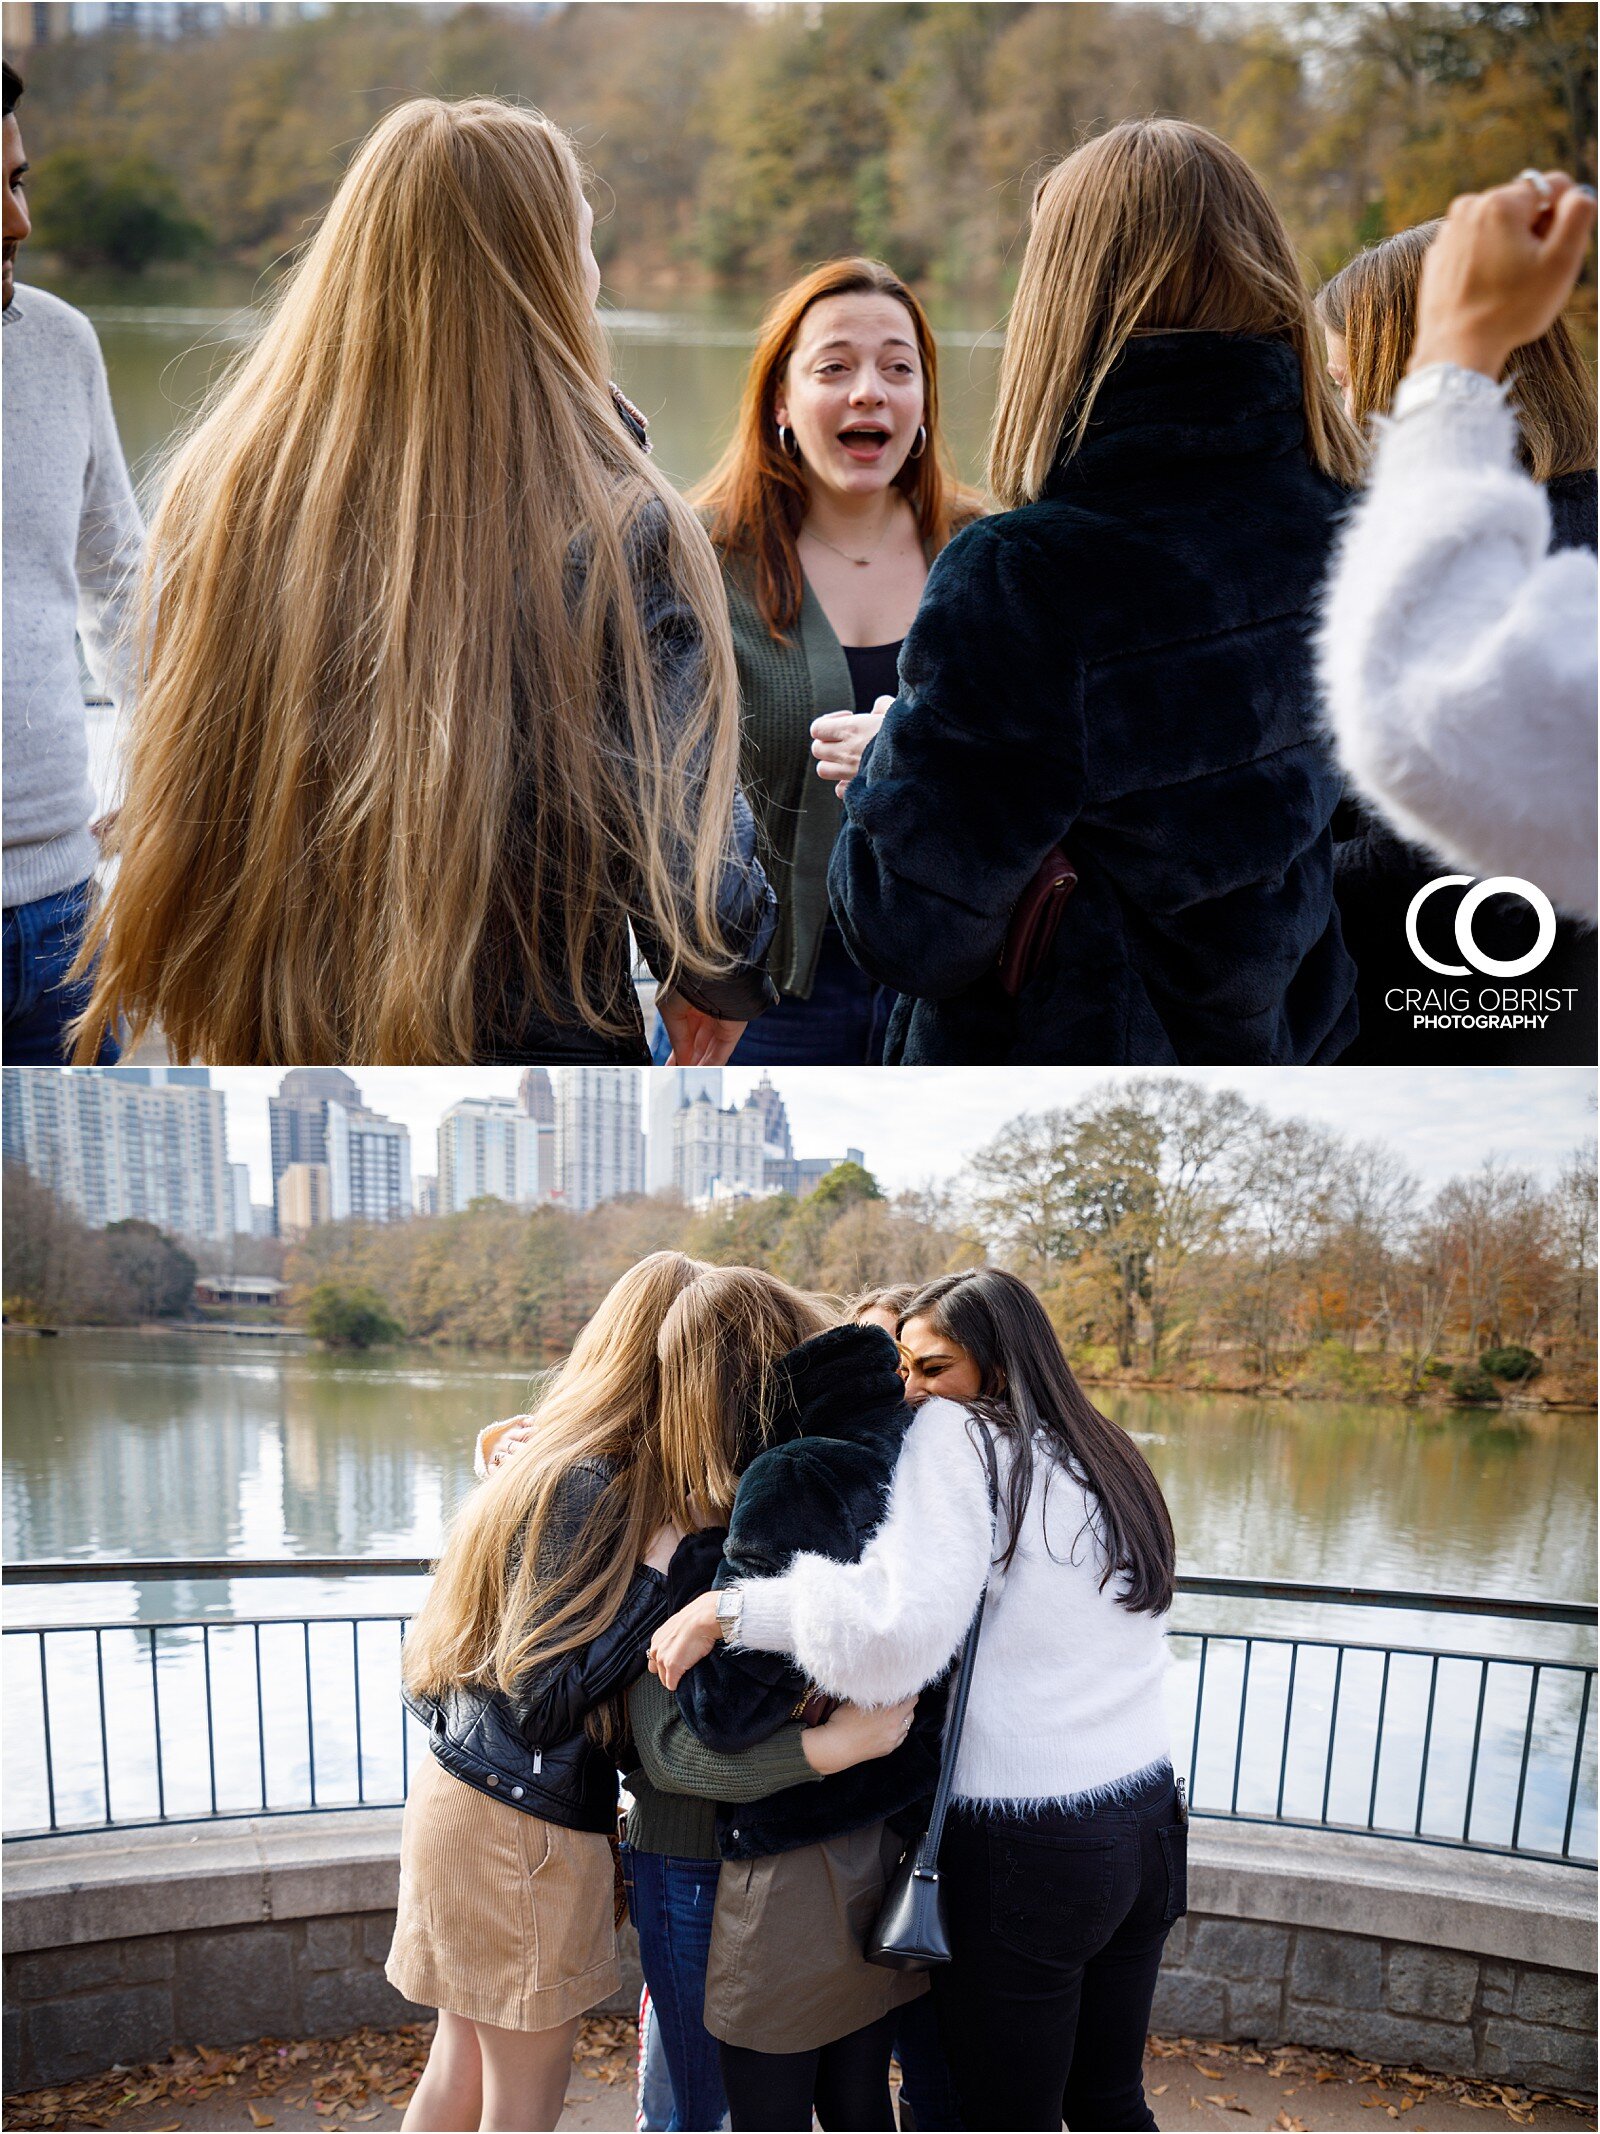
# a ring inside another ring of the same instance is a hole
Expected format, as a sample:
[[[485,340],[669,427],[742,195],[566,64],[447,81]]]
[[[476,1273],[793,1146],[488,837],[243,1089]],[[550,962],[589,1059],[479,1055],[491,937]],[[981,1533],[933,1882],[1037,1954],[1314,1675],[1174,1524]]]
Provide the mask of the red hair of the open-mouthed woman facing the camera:
[[[881,260],[847,258],[813,267],[766,307],[745,373],[734,440],[710,474],[689,491],[689,501],[706,514],[717,551],[751,557],[755,563],[755,604],[774,638],[800,621],[804,576],[796,538],[809,501],[800,461],[789,459],[779,444],[777,395],[800,339],[800,324],[823,297],[894,297],[911,314],[928,444],[905,461],[892,487],[917,514],[924,542],[937,555],[958,527],[983,510],[977,493],[956,480],[939,429],[939,350],[928,314]]]

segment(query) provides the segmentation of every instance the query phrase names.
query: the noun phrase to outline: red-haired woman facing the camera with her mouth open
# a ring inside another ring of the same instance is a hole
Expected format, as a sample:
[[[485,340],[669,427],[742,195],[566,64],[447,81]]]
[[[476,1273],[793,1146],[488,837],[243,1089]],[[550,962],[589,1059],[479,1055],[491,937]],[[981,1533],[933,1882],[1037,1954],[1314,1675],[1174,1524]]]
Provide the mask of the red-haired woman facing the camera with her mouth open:
[[[898,275],[830,260],[768,305],[734,440],[693,501],[727,585],[740,764],[781,907],[781,1001],[734,1065],[877,1063],[892,994],[828,909],[838,792],[898,689],[928,566],[981,510],[951,472],[932,329]]]

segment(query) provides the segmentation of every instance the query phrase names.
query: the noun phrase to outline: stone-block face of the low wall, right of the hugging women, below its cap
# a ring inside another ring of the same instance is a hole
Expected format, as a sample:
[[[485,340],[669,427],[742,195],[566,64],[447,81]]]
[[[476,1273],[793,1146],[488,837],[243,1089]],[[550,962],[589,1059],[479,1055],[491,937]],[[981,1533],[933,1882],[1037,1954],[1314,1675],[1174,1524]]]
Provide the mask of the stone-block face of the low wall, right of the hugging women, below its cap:
[[[1594,2096],[1591,1976],[1365,1933],[1190,1912],[1167,1944],[1152,2025]]]

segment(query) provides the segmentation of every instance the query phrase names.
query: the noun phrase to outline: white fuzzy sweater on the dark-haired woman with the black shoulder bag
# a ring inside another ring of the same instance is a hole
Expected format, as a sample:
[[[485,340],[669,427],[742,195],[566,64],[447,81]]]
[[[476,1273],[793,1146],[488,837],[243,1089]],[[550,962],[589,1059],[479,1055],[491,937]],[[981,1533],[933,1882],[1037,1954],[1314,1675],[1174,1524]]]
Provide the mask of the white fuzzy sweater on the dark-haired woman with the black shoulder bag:
[[[1005,1504],[1005,1445],[996,1451]],[[983,1603],[956,1761],[956,1797],[966,1801],[1109,1795],[1169,1758],[1167,1620],[1118,1607],[1118,1579],[1101,1590],[1094,1498],[1039,1451],[1015,1556],[994,1568]],[[894,1703],[949,1662],[992,1554],[988,1477],[966,1411],[930,1400],[860,1562],[796,1556],[783,1577],[740,1581],[738,1643],[794,1654],[832,1697]]]

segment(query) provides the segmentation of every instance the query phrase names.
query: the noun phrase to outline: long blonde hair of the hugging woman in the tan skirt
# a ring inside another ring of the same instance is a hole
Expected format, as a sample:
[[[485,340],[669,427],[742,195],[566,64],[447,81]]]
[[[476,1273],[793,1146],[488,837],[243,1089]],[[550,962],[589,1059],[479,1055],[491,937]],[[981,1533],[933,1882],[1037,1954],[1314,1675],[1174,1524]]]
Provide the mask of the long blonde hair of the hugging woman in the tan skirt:
[[[512,1692],[535,1667],[589,1643],[623,1605],[651,1534],[668,1517],[657,1344],[672,1308],[710,1274],[651,1253],[610,1289],[555,1372],[538,1438],[454,1515],[433,1586],[405,1639],[405,1686],[422,1697],[471,1682]],[[553,1562],[553,1513],[572,1468],[614,1475],[578,1539]],[[553,1607],[550,1592],[561,1598]]]

